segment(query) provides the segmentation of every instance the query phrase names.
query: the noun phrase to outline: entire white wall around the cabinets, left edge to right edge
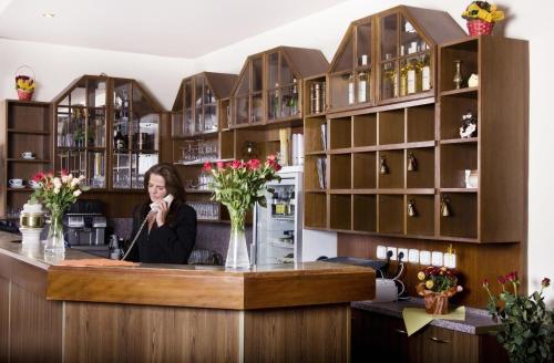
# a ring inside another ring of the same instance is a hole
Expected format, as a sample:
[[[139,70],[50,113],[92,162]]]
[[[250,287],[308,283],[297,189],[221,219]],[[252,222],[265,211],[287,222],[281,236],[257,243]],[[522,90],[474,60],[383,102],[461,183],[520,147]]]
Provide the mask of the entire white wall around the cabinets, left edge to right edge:
[[[0,39],[0,98],[16,96],[12,89],[13,72],[20,64],[27,63],[37,73],[40,84],[37,91],[39,101],[51,101],[81,74],[105,72],[110,75],[137,79],[152,91],[163,106],[171,108],[179,81],[185,75],[199,71],[237,73],[248,54],[276,45],[321,49],[327,59],[331,60],[352,20],[404,3],[448,11],[454,20],[464,25],[460,13],[469,2],[351,0],[194,61]],[[554,121],[550,116],[548,107],[554,85],[554,45],[550,31],[554,3],[504,0],[500,6],[507,10],[510,18],[503,23],[505,35],[526,39],[531,48],[529,282],[531,289],[535,289],[544,276],[554,279],[554,229],[548,226],[554,222],[550,210],[554,206],[554,153],[551,146]],[[499,105],[501,106],[503,105]],[[547,291],[551,303],[554,303],[553,290],[551,288]]]

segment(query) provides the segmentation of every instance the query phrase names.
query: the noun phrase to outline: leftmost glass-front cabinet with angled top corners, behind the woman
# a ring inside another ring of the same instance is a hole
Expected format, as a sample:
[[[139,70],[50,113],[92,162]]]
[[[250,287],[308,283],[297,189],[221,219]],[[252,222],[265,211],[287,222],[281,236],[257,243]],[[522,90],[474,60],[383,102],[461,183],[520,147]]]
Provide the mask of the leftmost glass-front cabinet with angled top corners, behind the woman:
[[[95,189],[140,189],[158,162],[162,108],[133,80],[85,75],[54,100],[54,168]]]

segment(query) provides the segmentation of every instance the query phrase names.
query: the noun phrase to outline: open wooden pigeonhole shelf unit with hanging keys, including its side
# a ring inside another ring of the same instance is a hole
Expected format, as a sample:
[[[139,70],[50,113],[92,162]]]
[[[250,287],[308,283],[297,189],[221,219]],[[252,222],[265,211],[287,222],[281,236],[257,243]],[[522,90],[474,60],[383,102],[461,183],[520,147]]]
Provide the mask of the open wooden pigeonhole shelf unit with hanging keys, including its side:
[[[312,143],[306,146],[306,228],[461,242],[523,240],[527,42],[463,38],[439,51],[438,102],[427,97],[306,118]],[[454,89],[456,60],[464,82],[475,73],[479,86]],[[478,131],[462,138],[468,113]]]

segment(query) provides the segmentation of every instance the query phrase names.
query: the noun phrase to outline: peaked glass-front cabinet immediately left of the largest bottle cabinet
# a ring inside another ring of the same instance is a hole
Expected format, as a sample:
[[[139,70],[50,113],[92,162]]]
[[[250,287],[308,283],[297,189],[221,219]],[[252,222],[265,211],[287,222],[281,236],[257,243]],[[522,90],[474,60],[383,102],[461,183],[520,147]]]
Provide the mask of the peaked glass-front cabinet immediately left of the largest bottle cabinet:
[[[312,49],[278,46],[250,55],[232,92],[232,127],[301,124],[302,81],[327,68],[321,51]]]

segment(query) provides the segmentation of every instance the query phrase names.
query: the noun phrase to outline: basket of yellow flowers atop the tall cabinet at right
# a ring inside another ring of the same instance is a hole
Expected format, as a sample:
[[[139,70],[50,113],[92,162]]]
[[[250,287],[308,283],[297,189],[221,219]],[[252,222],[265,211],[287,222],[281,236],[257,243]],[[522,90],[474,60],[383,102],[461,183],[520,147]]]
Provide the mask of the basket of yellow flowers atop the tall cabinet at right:
[[[486,1],[473,1],[462,18],[468,20],[470,35],[490,35],[494,23],[504,19],[504,12]]]

